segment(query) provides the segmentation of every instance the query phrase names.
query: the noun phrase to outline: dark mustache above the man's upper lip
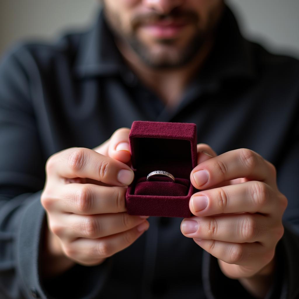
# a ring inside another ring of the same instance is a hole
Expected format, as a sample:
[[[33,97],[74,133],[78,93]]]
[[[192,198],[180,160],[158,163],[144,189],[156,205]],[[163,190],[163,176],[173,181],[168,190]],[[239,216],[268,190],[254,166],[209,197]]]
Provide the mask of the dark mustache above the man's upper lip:
[[[194,13],[192,10],[177,10],[173,9],[167,14],[160,14],[157,12],[148,12],[148,13],[142,13],[138,14],[132,17],[131,19],[131,24],[132,28],[135,30],[139,26],[143,24],[148,24],[152,22],[157,22],[157,21],[162,21],[166,19],[171,19],[171,20],[180,20],[180,21],[187,21],[187,22],[192,22],[196,23],[198,22],[198,15]]]

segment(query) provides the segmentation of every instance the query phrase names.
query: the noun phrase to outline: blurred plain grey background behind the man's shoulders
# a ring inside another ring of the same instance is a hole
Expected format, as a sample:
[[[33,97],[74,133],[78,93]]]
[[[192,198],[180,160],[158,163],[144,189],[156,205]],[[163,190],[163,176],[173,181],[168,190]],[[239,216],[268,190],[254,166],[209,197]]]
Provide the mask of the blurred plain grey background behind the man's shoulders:
[[[245,35],[299,58],[299,0],[227,0]],[[0,0],[0,55],[18,40],[53,39],[88,26],[96,0]]]

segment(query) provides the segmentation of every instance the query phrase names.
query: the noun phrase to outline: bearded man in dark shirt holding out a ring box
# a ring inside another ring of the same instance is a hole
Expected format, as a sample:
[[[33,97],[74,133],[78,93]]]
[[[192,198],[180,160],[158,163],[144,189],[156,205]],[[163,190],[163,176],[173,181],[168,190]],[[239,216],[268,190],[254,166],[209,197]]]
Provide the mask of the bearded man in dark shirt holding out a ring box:
[[[298,298],[298,61],[221,0],[103,7],[1,64],[1,295]],[[195,216],[126,213],[133,120],[197,124]]]

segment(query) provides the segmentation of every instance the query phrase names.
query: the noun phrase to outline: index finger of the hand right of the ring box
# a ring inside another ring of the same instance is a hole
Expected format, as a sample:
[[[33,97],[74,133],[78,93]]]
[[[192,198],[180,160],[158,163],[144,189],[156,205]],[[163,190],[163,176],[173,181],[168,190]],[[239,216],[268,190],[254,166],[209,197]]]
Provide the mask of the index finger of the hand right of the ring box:
[[[276,186],[275,167],[250,149],[226,152],[202,162],[190,173],[190,181],[197,189],[206,189],[238,178]]]

